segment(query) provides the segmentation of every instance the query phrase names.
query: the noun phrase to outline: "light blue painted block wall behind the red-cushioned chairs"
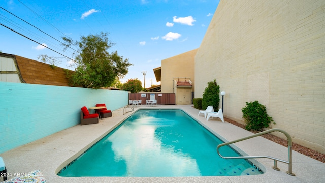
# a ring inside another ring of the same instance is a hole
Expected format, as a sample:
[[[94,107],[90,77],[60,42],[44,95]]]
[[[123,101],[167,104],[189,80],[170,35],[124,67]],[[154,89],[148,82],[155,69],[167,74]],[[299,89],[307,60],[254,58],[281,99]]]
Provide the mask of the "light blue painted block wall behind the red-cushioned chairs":
[[[98,103],[114,115],[128,92],[0,82],[0,154],[80,124],[81,107]]]

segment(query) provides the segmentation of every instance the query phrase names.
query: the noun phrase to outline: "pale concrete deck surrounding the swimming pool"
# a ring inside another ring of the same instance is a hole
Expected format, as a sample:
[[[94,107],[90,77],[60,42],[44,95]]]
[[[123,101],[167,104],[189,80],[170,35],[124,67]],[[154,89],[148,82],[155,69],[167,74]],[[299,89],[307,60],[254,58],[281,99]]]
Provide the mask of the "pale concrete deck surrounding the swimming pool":
[[[182,109],[206,128],[221,136],[222,140],[232,141],[252,135],[242,128],[220,119],[206,118],[192,105],[158,105],[135,107],[138,109]],[[293,173],[290,176],[288,165],[278,162],[280,171],[272,169],[271,159],[251,159],[264,170],[262,175],[248,176],[204,176],[204,177],[60,177],[56,173],[77,158],[96,141],[108,134],[133,112],[123,115],[123,108],[112,112],[113,116],[104,118],[99,124],[76,125],[45,138],[9,150],[3,154],[8,173],[28,173],[40,170],[47,182],[325,182],[325,163],[293,151]],[[127,135],[127,134],[125,134]],[[235,143],[235,146],[248,155],[267,155],[282,160],[288,159],[288,150],[275,142],[263,137],[255,137]],[[217,153],[217,152],[216,152]],[[242,153],[242,152],[241,152]],[[10,179],[12,177],[8,177]],[[2,177],[0,178],[2,180]]]

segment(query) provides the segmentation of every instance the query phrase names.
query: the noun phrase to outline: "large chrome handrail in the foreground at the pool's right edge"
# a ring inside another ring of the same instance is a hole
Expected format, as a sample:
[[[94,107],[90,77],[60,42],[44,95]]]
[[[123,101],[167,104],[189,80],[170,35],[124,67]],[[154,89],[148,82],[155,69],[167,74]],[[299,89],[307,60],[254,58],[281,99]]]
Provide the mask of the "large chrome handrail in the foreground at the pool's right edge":
[[[225,146],[225,145],[229,145],[229,144],[233,144],[233,143],[236,143],[236,142],[239,142],[239,141],[243,141],[243,140],[247,140],[247,139],[250,139],[250,138],[253,138],[253,137],[257,137],[257,136],[261,136],[261,135],[264,135],[264,134],[267,134],[267,133],[271,133],[271,132],[275,132],[275,131],[278,131],[278,132],[282,132],[288,139],[288,151],[289,151],[289,157],[288,157],[288,161],[285,161],[285,160],[281,160],[281,159],[278,159],[278,158],[273,158],[273,157],[270,157],[270,156],[241,156],[241,157],[224,157],[220,154],[219,152],[219,148],[222,147],[222,146]],[[277,170],[279,171],[280,169],[278,168],[278,161],[279,162],[282,162],[282,163],[286,163],[289,165],[289,170],[286,172],[287,174],[289,175],[292,175],[292,176],[295,176],[295,174],[293,173],[293,157],[292,157],[292,146],[293,146],[293,141],[291,139],[291,136],[285,132],[284,130],[281,130],[281,129],[270,129],[270,130],[266,130],[264,132],[259,132],[259,133],[256,133],[254,135],[250,135],[250,136],[247,136],[247,137],[244,137],[244,138],[240,138],[240,139],[237,139],[237,140],[233,140],[233,141],[230,141],[230,142],[225,142],[225,143],[222,143],[222,144],[219,144],[217,146],[217,152],[219,154],[219,156],[221,158],[224,158],[224,159],[249,159],[249,158],[269,158],[269,159],[272,159],[274,160],[274,166],[272,167],[274,170]]]

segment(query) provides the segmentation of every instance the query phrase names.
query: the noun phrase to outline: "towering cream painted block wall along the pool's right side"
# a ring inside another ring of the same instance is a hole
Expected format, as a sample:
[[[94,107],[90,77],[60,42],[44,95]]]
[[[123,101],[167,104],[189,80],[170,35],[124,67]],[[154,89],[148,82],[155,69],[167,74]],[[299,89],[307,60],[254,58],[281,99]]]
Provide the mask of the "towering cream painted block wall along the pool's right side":
[[[324,17],[323,0],[221,0],[195,57],[195,97],[216,79],[226,117],[244,123],[258,100],[273,128],[325,153]]]

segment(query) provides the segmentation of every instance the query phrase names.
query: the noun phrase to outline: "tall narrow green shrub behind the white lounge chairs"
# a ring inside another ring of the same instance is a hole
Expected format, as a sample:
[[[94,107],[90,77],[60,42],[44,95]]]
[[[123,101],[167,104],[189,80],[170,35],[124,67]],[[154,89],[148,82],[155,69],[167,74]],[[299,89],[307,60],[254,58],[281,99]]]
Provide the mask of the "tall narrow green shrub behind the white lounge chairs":
[[[219,110],[219,85],[215,82],[208,82],[208,86],[204,89],[202,97],[202,109],[205,110],[208,106],[213,106],[214,111]]]

